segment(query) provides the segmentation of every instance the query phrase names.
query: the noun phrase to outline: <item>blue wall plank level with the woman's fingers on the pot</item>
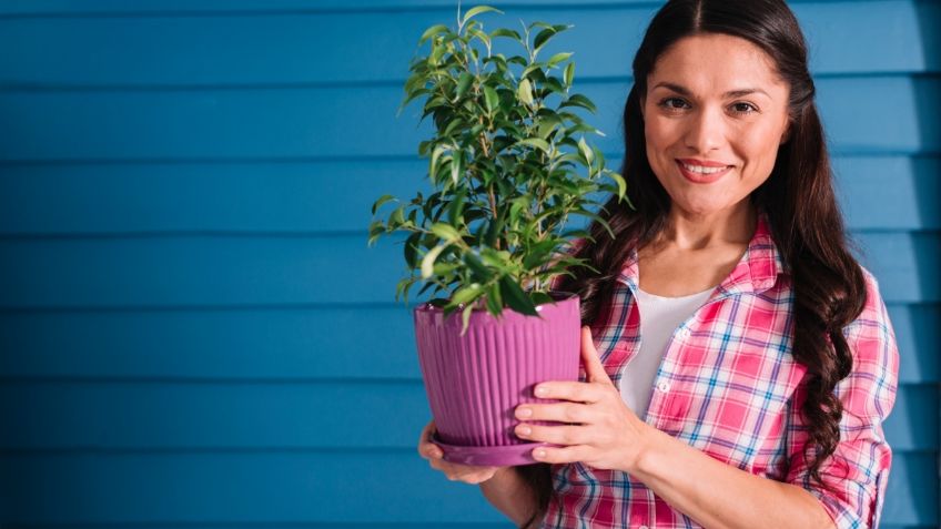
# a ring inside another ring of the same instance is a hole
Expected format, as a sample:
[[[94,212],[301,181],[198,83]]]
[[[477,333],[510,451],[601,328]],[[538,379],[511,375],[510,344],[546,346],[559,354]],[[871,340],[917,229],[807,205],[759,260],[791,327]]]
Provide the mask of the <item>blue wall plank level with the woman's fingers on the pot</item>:
[[[938,398],[899,388],[897,452],[937,449]],[[408,449],[429,419],[422,380],[0,383],[0,450]]]

